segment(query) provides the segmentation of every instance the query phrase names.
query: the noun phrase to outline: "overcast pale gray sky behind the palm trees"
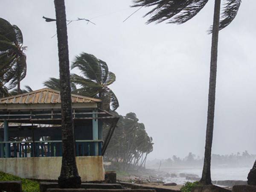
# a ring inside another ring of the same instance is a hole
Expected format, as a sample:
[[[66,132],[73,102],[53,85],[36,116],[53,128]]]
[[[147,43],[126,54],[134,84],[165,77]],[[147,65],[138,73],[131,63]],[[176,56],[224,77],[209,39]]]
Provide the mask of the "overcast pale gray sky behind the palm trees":
[[[135,112],[154,139],[150,159],[204,154],[213,0],[183,25],[145,25],[131,0],[66,0],[67,19],[93,18],[68,26],[70,61],[88,52],[116,74],[111,86],[117,110]],[[212,153],[256,153],[255,0],[244,0],[233,23],[220,32]],[[111,14],[110,14],[111,13]],[[1,0],[0,17],[16,24],[27,46],[22,87],[37,90],[58,77],[53,0]],[[103,15],[103,16],[102,16]],[[98,17],[100,16],[100,17]],[[73,70],[73,72],[76,72]]]

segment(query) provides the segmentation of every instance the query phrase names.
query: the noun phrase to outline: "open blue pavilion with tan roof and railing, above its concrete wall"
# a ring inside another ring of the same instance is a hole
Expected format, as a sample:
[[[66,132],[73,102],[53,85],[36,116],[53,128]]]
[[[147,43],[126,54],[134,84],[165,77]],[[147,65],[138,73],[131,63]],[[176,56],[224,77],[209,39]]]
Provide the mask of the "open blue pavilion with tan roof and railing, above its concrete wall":
[[[105,153],[118,117],[98,108],[100,99],[72,95],[76,156]],[[102,138],[102,123],[110,129]],[[0,99],[0,158],[61,157],[60,92],[41,89]]]

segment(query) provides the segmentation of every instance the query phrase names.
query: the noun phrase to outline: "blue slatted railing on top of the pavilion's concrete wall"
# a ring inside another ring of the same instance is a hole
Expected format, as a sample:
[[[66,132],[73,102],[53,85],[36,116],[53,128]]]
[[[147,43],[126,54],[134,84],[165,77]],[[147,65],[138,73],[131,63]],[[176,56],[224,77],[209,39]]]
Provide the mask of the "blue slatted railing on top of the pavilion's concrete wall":
[[[102,140],[76,140],[76,156],[101,156]],[[9,150],[6,151],[6,148]],[[97,149],[98,150],[95,150]],[[0,142],[0,158],[61,157],[62,141],[4,141]]]

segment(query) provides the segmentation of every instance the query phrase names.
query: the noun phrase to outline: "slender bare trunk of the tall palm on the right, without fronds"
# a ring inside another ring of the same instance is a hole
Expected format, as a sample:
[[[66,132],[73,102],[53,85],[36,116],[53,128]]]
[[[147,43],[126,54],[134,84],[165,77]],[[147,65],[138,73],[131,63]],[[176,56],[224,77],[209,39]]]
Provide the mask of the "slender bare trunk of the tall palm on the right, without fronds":
[[[221,0],[215,0],[214,17],[212,26],[212,48],[211,48],[211,66],[209,79],[209,95],[208,95],[208,112],[207,112],[207,128],[204,152],[204,168],[200,183],[209,185],[211,180],[211,152],[212,152],[212,136],[214,123],[215,108],[215,90],[217,75],[217,56],[218,56],[218,33],[220,20]]]

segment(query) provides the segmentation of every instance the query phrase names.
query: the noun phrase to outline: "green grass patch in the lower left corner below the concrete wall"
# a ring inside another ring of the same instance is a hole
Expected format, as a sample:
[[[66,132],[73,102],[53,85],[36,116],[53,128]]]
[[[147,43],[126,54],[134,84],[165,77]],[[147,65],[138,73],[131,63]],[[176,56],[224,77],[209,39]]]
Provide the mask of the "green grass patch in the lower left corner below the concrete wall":
[[[39,192],[39,183],[30,179],[23,179],[8,173],[0,172],[0,181],[21,180],[23,192]]]

